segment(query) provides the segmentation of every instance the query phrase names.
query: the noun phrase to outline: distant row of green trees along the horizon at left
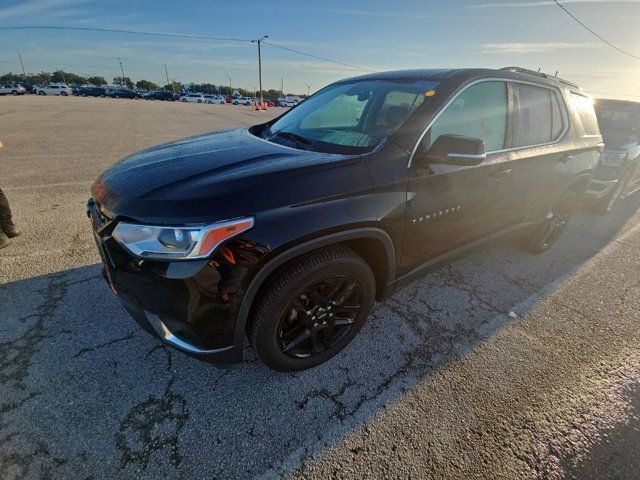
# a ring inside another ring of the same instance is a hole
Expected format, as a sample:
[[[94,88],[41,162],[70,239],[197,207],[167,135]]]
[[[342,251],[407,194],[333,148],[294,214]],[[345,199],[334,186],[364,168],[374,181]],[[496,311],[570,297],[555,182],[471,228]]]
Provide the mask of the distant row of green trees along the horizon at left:
[[[56,70],[54,72],[40,72],[29,73],[26,77],[19,73],[5,73],[0,75],[0,83],[23,83],[26,82],[31,85],[48,85],[50,83],[64,83],[66,85],[93,85],[101,87],[107,85],[108,82],[101,76],[84,76],[77,73],[65,72],[62,70]],[[225,96],[231,96],[234,92],[238,92],[241,96],[253,97],[258,94],[257,91],[247,90],[244,88],[233,88],[229,85],[215,85],[213,83],[189,83],[183,84],[180,82],[171,82],[166,85],[158,85],[150,80],[138,80],[134,82],[129,77],[114,77],[112,85],[119,85],[126,88],[139,88],[141,90],[168,90],[174,92],[198,92],[207,94],[220,94]],[[283,93],[279,90],[263,90],[263,96],[269,100],[276,100],[283,96]],[[291,94],[287,94],[291,95]]]

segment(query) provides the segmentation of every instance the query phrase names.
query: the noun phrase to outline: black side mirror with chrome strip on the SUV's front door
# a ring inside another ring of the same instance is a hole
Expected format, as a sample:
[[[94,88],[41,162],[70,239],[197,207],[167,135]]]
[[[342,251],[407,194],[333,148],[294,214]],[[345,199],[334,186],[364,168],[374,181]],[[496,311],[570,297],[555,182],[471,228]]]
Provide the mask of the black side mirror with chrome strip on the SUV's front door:
[[[428,151],[420,152],[418,150],[414,163],[420,167],[430,163],[470,167],[478,165],[485,158],[487,158],[487,154],[484,150],[483,140],[447,134],[440,135]]]

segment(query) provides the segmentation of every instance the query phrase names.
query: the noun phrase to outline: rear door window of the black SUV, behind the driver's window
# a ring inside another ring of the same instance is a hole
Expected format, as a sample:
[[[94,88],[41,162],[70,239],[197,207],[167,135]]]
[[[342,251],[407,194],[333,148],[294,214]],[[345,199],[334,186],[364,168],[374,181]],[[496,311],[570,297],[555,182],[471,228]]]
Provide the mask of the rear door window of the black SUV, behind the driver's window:
[[[541,145],[555,140],[564,128],[556,93],[525,83],[512,85],[515,100],[512,146]]]

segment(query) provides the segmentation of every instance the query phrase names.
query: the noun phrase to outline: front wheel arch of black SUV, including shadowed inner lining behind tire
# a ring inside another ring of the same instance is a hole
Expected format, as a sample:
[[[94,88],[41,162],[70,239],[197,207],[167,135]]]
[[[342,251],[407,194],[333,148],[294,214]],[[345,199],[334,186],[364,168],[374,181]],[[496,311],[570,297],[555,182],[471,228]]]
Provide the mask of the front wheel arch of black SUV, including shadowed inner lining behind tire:
[[[243,345],[252,308],[265,281],[286,263],[332,245],[346,245],[360,255],[369,264],[376,279],[376,299],[386,296],[388,285],[396,275],[395,247],[387,232],[380,228],[363,227],[323,235],[277,254],[254,275],[245,290],[238,309],[234,333],[236,345]],[[381,255],[383,255],[382,258],[380,258]]]

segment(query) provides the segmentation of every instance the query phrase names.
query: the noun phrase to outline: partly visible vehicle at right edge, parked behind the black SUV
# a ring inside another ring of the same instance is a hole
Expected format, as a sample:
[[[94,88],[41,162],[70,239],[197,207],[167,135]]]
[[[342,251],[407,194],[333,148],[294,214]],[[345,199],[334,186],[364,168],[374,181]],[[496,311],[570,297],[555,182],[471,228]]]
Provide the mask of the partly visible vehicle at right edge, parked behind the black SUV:
[[[640,103],[599,99],[595,109],[606,148],[585,201],[604,214],[640,189]]]

